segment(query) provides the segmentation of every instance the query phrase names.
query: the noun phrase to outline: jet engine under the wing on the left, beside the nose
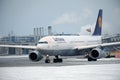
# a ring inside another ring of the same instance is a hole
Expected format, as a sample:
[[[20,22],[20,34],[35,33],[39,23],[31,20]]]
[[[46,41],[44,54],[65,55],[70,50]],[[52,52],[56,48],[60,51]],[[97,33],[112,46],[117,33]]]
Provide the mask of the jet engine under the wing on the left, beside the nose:
[[[39,51],[32,51],[29,54],[29,59],[31,61],[39,61],[43,58],[43,56],[39,53]]]

